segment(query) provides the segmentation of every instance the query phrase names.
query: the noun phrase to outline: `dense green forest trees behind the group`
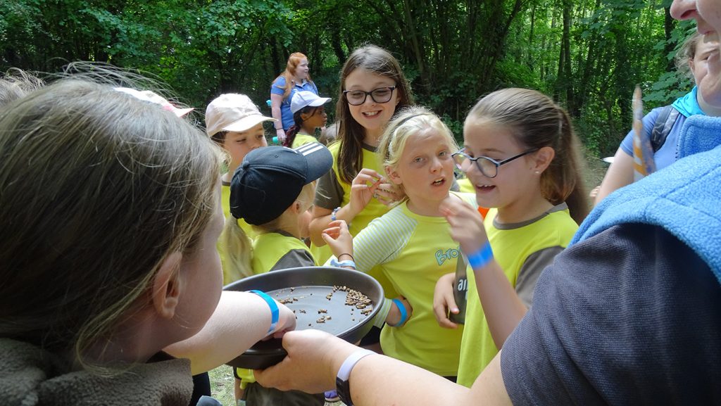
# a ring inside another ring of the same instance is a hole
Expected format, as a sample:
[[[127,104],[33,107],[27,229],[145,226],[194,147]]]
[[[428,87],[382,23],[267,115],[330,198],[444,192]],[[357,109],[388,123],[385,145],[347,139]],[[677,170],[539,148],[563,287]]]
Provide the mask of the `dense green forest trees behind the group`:
[[[319,93],[338,100],[338,72],[364,43],[390,50],[418,104],[461,138],[483,94],[528,87],[552,95],[594,156],[614,154],[645,110],[691,89],[673,56],[695,27],[671,0],[0,0],[0,71],[57,72],[101,61],[159,76],[200,115],[218,94],[261,111],[288,55],[309,58]],[[332,122],[334,108],[329,108]]]

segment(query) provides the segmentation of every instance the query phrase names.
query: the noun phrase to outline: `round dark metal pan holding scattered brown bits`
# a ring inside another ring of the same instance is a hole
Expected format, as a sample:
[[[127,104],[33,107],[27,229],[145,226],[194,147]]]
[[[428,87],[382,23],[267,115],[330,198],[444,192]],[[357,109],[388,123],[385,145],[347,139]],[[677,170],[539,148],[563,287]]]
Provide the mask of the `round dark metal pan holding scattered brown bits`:
[[[274,270],[224,288],[226,291],[253,289],[264,291],[293,310],[296,330],[323,330],[350,343],[361,340],[371,330],[384,300],[383,288],[372,276],[325,266]],[[361,299],[358,293],[367,296],[370,303],[362,303],[367,300]],[[236,368],[266,369],[285,357],[281,340],[271,338],[256,343],[227,364]]]

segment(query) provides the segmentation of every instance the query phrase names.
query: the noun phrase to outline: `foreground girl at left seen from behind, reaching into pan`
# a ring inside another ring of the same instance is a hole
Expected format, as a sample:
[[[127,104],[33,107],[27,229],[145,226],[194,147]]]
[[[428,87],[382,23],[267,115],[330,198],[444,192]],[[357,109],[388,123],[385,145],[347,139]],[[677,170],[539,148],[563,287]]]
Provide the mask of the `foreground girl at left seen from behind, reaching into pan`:
[[[63,79],[0,112],[3,404],[187,405],[191,374],[295,324],[221,294],[220,150],[113,87]]]

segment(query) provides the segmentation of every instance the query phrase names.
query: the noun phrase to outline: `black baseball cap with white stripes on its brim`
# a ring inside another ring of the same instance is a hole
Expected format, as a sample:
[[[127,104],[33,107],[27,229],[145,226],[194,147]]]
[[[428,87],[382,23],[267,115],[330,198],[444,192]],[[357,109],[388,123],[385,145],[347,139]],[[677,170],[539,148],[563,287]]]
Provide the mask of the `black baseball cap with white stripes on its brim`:
[[[330,151],[317,142],[290,149],[265,146],[250,151],[233,174],[230,212],[248,224],[265,224],[280,217],[303,187],[333,165]]]

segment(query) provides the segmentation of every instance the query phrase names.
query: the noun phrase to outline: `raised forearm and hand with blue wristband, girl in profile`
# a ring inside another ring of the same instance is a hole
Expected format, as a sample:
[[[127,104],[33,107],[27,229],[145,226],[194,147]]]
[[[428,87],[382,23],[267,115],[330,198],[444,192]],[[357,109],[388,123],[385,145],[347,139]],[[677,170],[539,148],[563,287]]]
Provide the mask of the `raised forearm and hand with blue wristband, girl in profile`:
[[[493,259],[478,211],[453,196],[443,201],[441,210],[451,225],[451,237],[461,244],[461,250],[473,268],[478,296],[493,342],[501,348],[528,309]]]

